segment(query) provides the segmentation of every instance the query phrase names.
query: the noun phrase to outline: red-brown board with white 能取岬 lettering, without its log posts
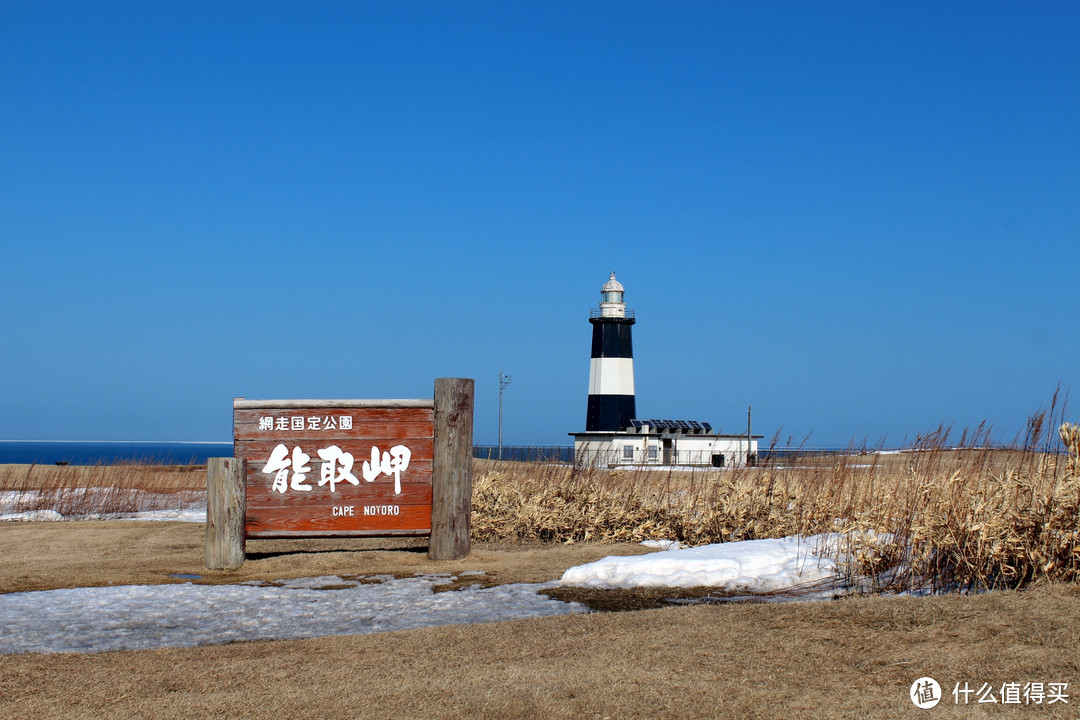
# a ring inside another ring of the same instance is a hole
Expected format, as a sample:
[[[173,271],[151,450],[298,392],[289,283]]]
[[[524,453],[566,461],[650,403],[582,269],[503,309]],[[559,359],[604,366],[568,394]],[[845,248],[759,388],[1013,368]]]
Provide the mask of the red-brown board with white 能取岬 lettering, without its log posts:
[[[245,400],[247,538],[431,532],[434,402]]]

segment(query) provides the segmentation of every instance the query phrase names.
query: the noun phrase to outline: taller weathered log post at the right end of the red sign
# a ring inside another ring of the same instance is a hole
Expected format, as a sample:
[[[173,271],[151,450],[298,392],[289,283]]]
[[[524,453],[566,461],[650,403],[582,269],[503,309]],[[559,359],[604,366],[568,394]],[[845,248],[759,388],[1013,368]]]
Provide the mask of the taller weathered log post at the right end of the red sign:
[[[432,560],[469,555],[472,531],[473,381],[435,380],[435,458],[431,476]]]

